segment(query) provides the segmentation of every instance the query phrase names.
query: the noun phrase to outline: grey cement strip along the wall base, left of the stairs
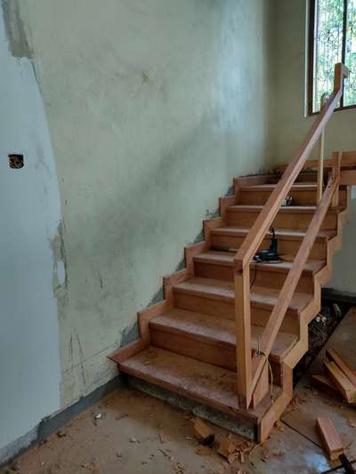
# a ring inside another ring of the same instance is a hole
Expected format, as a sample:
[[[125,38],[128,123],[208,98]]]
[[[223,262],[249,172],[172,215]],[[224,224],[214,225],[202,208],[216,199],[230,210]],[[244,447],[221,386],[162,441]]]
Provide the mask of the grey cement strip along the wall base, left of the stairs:
[[[0,468],[12,462],[12,460],[20,454],[25,453],[30,447],[43,442],[55,431],[60,430],[65,424],[70,422],[75,416],[82,414],[85,410],[101,401],[102,398],[109,395],[112,391],[117,390],[122,385],[123,379],[120,375],[117,375],[114,379],[111,379],[98,389],[93,390],[89,395],[80,398],[76,403],[65,410],[44,418],[35,428],[28,431],[26,435],[15,439],[15,441],[12,441],[12,443],[0,449]]]

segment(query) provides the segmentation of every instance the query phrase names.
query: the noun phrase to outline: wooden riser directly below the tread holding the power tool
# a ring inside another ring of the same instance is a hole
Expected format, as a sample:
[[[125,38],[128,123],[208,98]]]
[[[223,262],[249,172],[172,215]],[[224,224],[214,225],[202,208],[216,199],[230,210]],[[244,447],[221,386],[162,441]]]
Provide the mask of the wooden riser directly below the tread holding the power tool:
[[[194,263],[194,273],[196,277],[213,278],[215,280],[233,281],[234,272],[232,267],[226,265],[208,264],[196,261]],[[270,288],[281,288],[287,278],[287,272],[268,271],[255,267],[255,263],[251,264],[250,281],[255,280],[256,286],[265,286]],[[314,283],[311,274],[303,275],[299,280],[296,291],[301,293],[312,293]]]

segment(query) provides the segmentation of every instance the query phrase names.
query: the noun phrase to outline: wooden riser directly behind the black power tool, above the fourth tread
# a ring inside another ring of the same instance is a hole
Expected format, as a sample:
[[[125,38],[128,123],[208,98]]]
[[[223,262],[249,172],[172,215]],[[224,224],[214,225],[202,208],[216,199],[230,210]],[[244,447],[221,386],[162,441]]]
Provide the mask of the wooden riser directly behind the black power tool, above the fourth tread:
[[[245,237],[231,237],[231,236],[218,236],[212,233],[212,246],[217,248],[239,248],[244,241]],[[301,245],[300,240],[285,240],[283,237],[279,237],[279,253],[281,255],[296,255]],[[264,238],[260,245],[260,250],[266,249],[270,246],[271,239]],[[325,260],[327,258],[328,245],[327,241],[316,241],[312,246],[312,252],[310,254],[311,259]]]

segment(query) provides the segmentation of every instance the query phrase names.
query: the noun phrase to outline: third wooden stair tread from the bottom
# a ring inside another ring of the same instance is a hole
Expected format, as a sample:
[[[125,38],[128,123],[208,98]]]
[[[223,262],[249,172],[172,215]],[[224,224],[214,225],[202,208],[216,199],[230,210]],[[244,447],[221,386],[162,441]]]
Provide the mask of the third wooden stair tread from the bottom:
[[[204,298],[223,300],[233,303],[235,301],[234,283],[212,278],[192,277],[178,285],[174,285],[174,292],[190,293]],[[279,296],[279,290],[253,286],[251,288],[251,303],[255,307],[263,309],[274,308]],[[288,312],[299,314],[308,303],[312,301],[312,295],[307,293],[294,294],[289,305]]]

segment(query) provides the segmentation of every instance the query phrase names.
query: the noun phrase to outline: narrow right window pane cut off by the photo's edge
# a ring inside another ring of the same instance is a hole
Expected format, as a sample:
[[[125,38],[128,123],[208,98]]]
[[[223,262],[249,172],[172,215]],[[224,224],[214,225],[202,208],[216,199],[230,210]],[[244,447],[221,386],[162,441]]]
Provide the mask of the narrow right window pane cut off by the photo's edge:
[[[345,66],[350,77],[344,83],[344,106],[356,104],[356,0],[348,1]]]

